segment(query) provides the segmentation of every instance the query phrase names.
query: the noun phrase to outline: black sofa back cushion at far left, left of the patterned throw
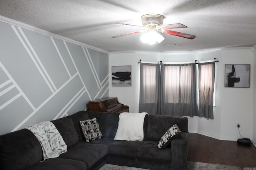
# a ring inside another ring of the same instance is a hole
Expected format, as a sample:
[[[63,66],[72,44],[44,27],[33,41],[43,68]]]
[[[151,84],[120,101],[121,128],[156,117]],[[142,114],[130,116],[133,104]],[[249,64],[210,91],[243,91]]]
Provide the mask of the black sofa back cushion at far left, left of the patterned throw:
[[[21,129],[0,136],[0,169],[26,169],[42,158],[40,142],[30,130]]]

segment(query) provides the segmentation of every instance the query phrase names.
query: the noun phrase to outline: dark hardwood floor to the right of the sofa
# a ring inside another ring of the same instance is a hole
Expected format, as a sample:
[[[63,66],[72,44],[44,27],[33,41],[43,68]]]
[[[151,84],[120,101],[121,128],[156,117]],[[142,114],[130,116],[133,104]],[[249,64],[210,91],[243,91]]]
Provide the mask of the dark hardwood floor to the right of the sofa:
[[[241,170],[256,170],[256,147],[239,145],[236,141],[222,141],[190,133],[188,161],[240,166]]]

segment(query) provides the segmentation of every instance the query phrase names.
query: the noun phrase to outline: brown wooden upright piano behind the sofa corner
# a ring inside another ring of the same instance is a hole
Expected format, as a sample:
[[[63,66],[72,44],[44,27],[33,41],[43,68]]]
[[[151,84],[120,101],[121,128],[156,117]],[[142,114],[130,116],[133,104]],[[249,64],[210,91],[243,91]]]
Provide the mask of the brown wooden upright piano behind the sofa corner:
[[[129,112],[129,106],[120,104],[117,98],[103,98],[88,103],[88,110],[122,113]]]

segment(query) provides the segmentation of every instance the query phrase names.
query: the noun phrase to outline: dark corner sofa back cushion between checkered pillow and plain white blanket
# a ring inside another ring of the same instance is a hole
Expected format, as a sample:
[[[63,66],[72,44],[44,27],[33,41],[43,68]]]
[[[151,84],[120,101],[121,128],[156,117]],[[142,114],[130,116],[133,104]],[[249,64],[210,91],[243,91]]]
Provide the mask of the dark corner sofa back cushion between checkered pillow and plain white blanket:
[[[115,137],[120,113],[88,111],[89,119],[96,118],[104,137]]]

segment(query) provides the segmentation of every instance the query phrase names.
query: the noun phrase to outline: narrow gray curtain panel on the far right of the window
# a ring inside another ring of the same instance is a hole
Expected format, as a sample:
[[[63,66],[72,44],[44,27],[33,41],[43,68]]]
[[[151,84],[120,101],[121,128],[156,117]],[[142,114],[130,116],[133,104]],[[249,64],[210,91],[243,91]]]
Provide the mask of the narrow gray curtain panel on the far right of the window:
[[[215,62],[199,63],[199,116],[213,119]]]

